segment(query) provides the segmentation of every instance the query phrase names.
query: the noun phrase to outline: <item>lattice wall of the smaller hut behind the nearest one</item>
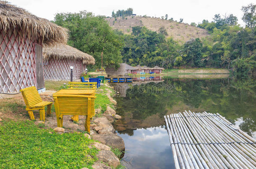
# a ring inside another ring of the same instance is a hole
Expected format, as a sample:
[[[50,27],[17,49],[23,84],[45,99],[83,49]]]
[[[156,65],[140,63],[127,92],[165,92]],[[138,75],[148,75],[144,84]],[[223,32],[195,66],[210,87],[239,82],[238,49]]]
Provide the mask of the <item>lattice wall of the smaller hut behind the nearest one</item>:
[[[70,79],[70,66],[73,66],[73,79],[79,79],[81,73],[86,69],[86,65],[83,65],[83,61],[55,59],[51,57],[48,61],[44,61],[44,79],[45,80],[69,80]]]

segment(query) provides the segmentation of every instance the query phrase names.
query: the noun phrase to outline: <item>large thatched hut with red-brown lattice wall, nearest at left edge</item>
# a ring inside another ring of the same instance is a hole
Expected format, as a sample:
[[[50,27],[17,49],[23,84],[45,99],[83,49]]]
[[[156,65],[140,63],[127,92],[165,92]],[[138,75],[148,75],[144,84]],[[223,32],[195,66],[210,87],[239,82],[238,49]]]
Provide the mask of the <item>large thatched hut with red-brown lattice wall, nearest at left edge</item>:
[[[0,1],[0,93],[44,88],[42,44],[67,39],[67,29]]]

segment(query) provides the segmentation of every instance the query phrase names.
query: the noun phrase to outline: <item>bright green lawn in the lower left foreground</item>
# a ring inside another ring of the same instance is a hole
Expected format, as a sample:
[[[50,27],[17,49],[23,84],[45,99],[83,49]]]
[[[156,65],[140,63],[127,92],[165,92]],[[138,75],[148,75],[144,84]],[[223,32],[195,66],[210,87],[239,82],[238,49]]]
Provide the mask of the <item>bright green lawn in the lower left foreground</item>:
[[[93,141],[82,133],[60,135],[49,131],[33,121],[0,123],[0,168],[80,169],[97,161],[98,150],[88,148]]]

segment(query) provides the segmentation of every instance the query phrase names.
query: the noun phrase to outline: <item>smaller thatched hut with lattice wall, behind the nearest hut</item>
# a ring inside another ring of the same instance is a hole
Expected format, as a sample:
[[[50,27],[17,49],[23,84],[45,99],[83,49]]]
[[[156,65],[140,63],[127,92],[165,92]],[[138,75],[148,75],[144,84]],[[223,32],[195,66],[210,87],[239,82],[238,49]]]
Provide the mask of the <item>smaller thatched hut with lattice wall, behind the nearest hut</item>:
[[[70,79],[70,66],[73,66],[73,78],[80,78],[86,66],[95,64],[95,59],[80,50],[65,44],[43,46],[44,79]]]

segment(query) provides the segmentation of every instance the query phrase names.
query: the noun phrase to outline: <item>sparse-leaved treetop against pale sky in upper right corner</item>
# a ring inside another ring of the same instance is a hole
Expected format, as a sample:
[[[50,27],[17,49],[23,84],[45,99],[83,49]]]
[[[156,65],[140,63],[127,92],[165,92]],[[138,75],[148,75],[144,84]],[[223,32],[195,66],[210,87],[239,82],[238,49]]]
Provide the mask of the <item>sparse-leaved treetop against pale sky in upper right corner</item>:
[[[243,17],[242,20],[247,27],[253,28],[256,24],[256,5],[250,3],[247,6],[242,6]]]

